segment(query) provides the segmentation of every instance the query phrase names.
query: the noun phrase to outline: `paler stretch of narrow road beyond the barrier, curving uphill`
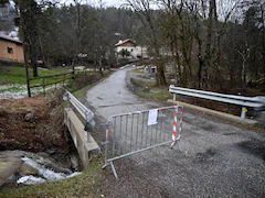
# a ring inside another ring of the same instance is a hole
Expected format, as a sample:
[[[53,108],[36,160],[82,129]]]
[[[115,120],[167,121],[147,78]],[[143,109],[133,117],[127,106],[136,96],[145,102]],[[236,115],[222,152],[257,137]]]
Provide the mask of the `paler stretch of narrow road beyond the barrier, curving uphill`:
[[[107,119],[113,114],[138,110],[147,110],[156,103],[144,103],[144,100],[132,95],[126,86],[126,73],[121,69],[114,73],[87,92],[89,106],[96,108],[96,112]]]

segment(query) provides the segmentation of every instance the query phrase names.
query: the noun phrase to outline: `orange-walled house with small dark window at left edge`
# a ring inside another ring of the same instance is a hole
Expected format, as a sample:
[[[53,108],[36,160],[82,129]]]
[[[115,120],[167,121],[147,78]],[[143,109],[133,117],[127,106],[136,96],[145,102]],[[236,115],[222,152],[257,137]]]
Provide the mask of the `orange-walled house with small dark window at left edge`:
[[[22,42],[0,34],[0,59],[7,62],[24,62]]]

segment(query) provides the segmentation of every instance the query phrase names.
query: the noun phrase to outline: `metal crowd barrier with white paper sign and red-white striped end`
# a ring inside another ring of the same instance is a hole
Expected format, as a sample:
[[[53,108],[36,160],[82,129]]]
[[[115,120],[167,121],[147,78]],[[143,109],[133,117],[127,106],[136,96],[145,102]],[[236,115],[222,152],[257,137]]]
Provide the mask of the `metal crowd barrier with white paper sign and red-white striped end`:
[[[171,106],[135,111],[109,117],[106,123],[105,165],[110,165],[118,178],[113,162],[142,151],[177,143],[179,148],[183,121],[183,107]],[[171,143],[171,144],[170,144]]]

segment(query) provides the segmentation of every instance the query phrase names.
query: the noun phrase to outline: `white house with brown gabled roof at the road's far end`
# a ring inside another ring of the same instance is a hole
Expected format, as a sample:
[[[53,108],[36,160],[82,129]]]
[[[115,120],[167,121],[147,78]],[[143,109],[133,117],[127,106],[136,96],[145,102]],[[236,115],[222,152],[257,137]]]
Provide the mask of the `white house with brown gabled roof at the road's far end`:
[[[118,58],[121,58],[120,52],[123,50],[128,51],[130,53],[129,58],[132,58],[132,59],[138,59],[140,57],[142,58],[148,57],[147,47],[137,46],[136,43],[130,38],[127,38],[124,41],[119,40],[119,42],[115,44],[115,51]]]

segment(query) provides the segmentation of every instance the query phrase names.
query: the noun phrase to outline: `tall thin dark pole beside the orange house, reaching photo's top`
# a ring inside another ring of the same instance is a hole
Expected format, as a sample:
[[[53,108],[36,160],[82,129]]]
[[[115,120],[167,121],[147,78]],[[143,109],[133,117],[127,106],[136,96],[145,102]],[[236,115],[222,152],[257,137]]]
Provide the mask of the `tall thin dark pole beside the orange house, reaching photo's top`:
[[[29,78],[29,66],[28,66],[28,58],[26,58],[26,47],[25,47],[25,33],[24,33],[24,19],[23,19],[23,0],[19,0],[19,9],[20,9],[20,28],[21,28],[21,36],[22,36],[22,46],[24,53],[24,68],[25,68],[25,79],[26,79],[26,89],[28,89],[28,97],[31,97],[30,91],[30,78]]]

